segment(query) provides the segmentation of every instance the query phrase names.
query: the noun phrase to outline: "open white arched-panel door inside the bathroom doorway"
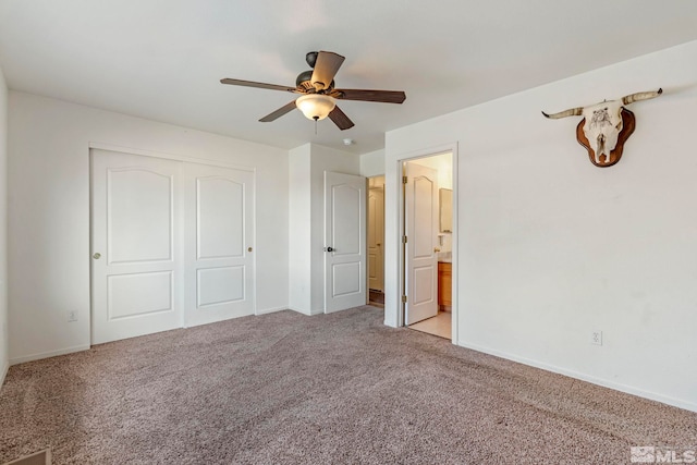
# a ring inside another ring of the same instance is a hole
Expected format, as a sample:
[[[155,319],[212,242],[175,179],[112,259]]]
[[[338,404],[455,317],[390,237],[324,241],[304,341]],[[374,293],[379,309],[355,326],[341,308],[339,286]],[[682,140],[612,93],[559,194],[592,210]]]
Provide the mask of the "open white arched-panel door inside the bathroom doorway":
[[[438,315],[438,171],[406,164],[406,325]]]

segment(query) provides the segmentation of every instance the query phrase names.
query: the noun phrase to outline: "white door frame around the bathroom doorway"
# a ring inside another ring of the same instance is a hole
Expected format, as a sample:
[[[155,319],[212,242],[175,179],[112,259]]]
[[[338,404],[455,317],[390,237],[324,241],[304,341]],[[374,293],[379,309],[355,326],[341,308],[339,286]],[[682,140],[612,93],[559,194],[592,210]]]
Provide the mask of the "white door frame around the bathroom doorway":
[[[405,318],[405,305],[402,303],[402,296],[406,290],[406,247],[405,244],[402,243],[402,237],[406,234],[406,218],[404,215],[405,208],[405,193],[404,193],[404,184],[402,183],[403,174],[403,166],[406,161],[414,161],[419,158],[433,157],[437,155],[442,155],[451,152],[452,154],[452,173],[453,173],[453,233],[452,233],[452,242],[453,242],[453,252],[452,252],[452,335],[451,342],[453,344],[457,344],[457,329],[460,321],[460,305],[458,305],[458,285],[457,285],[457,191],[458,191],[458,173],[457,173],[457,144],[448,144],[438,147],[431,147],[420,150],[411,151],[407,154],[402,154],[396,158],[396,169],[395,169],[395,182],[399,186],[398,188],[398,235],[393,240],[395,244],[398,244],[398,282],[396,282],[396,292],[394,295],[394,302],[398,303],[399,310],[396,313],[396,326],[404,327],[406,325]],[[387,290],[386,290],[387,291]]]

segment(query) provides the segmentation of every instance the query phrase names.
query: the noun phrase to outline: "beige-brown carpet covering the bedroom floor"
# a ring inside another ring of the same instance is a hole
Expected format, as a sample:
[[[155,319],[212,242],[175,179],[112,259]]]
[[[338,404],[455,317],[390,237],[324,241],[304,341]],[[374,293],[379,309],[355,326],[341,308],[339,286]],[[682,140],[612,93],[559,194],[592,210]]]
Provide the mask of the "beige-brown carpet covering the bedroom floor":
[[[11,367],[0,463],[622,464],[697,414],[382,325],[280,311]]]

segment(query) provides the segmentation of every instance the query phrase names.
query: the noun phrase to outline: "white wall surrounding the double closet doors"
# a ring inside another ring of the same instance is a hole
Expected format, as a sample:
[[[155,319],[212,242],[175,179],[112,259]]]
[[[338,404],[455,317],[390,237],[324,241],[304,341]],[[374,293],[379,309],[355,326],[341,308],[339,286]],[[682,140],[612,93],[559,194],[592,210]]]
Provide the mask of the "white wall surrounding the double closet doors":
[[[89,346],[89,143],[254,167],[257,313],[288,306],[285,150],[17,91],[9,114],[11,363]]]

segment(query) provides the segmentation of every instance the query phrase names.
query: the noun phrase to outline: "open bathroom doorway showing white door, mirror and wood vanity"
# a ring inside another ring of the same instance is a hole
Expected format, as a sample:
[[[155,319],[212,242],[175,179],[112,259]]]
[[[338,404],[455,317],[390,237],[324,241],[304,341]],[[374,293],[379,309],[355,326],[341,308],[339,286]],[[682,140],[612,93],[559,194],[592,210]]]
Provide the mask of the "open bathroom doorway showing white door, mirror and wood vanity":
[[[402,169],[404,322],[451,340],[453,154],[411,159]]]

